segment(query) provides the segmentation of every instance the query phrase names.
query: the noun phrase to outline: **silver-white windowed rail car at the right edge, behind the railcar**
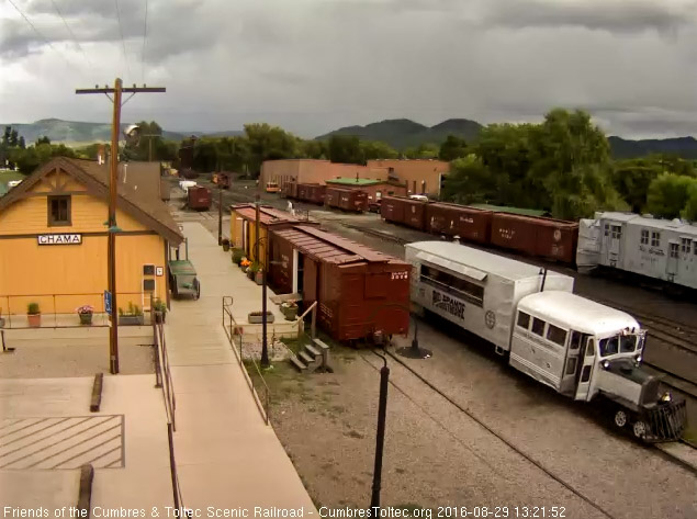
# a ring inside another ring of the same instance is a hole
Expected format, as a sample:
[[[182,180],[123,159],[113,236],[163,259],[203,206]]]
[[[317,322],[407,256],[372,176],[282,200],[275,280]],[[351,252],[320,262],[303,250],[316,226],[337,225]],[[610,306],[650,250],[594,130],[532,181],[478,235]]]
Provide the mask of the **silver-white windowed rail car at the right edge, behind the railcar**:
[[[697,226],[631,213],[596,213],[580,223],[576,263],[604,266],[697,289]]]

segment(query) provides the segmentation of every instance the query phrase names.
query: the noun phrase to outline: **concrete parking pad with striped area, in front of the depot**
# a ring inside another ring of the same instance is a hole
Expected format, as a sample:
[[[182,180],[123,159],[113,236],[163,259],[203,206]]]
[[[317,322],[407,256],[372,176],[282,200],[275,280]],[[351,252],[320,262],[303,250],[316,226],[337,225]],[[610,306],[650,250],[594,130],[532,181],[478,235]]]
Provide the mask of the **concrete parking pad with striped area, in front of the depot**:
[[[154,385],[154,375],[105,375],[100,413],[90,413],[91,377],[0,379],[0,503],[53,517],[75,506],[78,467],[92,463],[92,507],[172,506],[167,419]]]

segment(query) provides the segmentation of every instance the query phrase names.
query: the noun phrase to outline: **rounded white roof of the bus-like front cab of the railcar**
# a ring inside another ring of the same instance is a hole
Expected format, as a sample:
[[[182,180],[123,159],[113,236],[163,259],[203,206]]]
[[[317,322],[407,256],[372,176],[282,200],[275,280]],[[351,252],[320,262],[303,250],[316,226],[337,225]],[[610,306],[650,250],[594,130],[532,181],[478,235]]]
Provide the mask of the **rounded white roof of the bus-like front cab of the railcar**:
[[[627,327],[639,328],[639,323],[631,315],[571,292],[538,292],[522,297],[518,309],[586,334],[603,335]]]

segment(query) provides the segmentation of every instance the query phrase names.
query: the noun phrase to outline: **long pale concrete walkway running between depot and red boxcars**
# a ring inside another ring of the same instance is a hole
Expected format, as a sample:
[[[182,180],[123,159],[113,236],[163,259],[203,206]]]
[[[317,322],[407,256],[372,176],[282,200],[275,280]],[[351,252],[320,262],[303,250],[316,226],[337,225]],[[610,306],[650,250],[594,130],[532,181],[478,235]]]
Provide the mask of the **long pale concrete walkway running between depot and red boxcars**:
[[[261,287],[232,263],[201,224],[184,223],[183,233],[201,280],[201,298],[173,301],[165,328],[184,505],[304,507],[305,514],[316,514],[272,427],[265,424],[222,327],[222,297],[233,296],[233,315],[244,324],[247,313],[260,309]],[[282,319],[276,305],[269,302],[268,307]]]

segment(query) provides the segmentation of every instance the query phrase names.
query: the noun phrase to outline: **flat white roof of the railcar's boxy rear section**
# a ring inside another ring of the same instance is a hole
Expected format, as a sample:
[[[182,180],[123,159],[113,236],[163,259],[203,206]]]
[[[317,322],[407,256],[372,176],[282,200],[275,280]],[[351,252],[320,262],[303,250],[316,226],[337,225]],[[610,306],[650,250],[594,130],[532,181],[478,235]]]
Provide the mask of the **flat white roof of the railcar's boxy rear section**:
[[[458,266],[481,270],[501,278],[516,281],[540,275],[540,268],[530,263],[524,263],[503,256],[485,252],[465,245],[451,241],[416,241],[405,247],[418,252],[431,255],[436,262],[448,261],[452,263],[451,270],[458,272]],[[548,271],[547,275],[563,275],[559,272]]]

